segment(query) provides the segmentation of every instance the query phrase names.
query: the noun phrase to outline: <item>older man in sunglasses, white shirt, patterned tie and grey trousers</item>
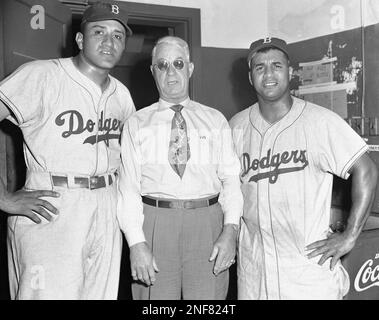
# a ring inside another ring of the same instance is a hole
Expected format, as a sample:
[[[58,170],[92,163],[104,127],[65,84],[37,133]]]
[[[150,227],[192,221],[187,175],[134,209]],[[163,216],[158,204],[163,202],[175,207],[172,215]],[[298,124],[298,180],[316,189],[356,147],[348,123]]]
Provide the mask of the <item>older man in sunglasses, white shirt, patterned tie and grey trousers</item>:
[[[158,40],[151,71],[160,99],[122,134],[118,218],[134,299],[227,295],[243,207],[240,164],[225,117],[190,100],[193,70],[184,40]]]

